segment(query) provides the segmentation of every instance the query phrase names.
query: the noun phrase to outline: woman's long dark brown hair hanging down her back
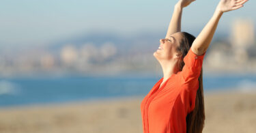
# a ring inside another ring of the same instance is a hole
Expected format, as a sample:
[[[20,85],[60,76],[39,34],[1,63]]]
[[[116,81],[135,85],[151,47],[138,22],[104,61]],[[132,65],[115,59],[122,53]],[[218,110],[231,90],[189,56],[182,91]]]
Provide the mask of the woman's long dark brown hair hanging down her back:
[[[179,69],[182,70],[184,66],[184,57],[188,53],[188,50],[192,46],[195,36],[190,33],[182,32],[184,38],[180,41],[180,46],[177,51],[182,56],[182,60],[179,65]],[[203,68],[201,69],[201,74],[198,78],[199,88],[197,89],[197,96],[195,99],[195,108],[192,112],[188,113],[186,116],[186,132],[187,133],[201,133],[203,131],[205,111],[204,111],[204,100],[203,100]]]

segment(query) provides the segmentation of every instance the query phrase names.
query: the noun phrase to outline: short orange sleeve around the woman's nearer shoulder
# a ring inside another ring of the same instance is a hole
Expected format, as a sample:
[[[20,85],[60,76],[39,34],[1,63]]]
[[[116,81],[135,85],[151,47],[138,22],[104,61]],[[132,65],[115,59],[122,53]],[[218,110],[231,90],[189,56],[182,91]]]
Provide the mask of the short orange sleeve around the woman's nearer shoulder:
[[[193,53],[191,48],[188,50],[187,55],[184,57],[185,65],[182,68],[182,72],[180,72],[185,82],[188,82],[200,76],[201,68],[203,65],[203,57],[205,56],[205,53],[203,53],[203,55],[196,55],[195,53]]]

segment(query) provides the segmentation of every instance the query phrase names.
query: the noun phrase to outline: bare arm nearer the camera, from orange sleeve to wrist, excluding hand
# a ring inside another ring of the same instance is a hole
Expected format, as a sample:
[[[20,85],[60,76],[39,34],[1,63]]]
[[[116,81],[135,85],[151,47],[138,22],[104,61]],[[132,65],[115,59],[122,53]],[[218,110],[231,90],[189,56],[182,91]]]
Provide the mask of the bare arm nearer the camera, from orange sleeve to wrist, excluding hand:
[[[214,15],[210,21],[205,25],[201,33],[199,33],[191,46],[191,49],[195,54],[203,55],[203,53],[205,53],[208,46],[210,45],[210,42],[212,41],[213,35],[218,25],[218,21],[220,20],[222,14],[223,12],[215,10]]]

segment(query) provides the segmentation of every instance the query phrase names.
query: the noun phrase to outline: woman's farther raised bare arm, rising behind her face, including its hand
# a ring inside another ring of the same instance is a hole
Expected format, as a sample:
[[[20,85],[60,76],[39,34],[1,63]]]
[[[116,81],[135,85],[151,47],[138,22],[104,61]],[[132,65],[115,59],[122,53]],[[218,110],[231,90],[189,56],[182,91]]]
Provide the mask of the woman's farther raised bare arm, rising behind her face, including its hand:
[[[173,33],[181,31],[182,9],[188,6],[193,1],[195,0],[180,0],[176,3],[165,38],[168,38]]]

